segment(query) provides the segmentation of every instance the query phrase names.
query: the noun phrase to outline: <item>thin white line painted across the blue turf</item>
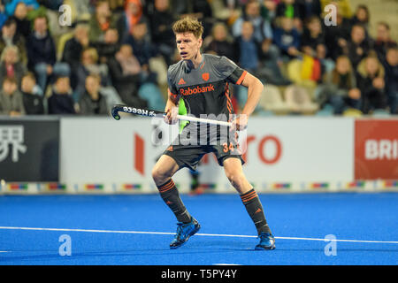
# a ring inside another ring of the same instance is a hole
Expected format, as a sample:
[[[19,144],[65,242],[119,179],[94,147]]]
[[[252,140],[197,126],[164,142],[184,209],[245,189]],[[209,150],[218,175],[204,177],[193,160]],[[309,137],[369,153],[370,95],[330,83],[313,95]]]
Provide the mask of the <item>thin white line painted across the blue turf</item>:
[[[148,232],[148,231],[119,231],[119,230],[93,230],[93,229],[70,229],[70,228],[37,228],[37,227],[12,227],[0,226],[0,230],[30,230],[30,231],[59,231],[59,232],[87,232],[87,233],[141,233],[141,234],[160,234],[173,235],[171,232]],[[210,237],[236,237],[236,238],[256,238],[253,235],[235,235],[222,233],[196,233],[196,236]],[[275,237],[280,240],[297,240],[297,241],[346,241],[346,242],[367,242],[367,243],[384,243],[398,244],[398,241],[367,241],[367,240],[343,240],[343,239],[322,239],[322,238],[301,238],[301,237]]]

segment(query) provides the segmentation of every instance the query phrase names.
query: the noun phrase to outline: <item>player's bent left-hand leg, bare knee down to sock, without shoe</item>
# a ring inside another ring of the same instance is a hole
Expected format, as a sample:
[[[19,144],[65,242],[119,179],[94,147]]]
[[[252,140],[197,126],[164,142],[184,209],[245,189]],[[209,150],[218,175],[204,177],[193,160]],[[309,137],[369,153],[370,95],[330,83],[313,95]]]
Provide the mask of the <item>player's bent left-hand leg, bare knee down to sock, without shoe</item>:
[[[180,198],[179,191],[172,176],[180,169],[180,165],[167,155],[162,155],[152,170],[152,178],[157,185],[160,196],[181,223],[191,222],[191,216]]]

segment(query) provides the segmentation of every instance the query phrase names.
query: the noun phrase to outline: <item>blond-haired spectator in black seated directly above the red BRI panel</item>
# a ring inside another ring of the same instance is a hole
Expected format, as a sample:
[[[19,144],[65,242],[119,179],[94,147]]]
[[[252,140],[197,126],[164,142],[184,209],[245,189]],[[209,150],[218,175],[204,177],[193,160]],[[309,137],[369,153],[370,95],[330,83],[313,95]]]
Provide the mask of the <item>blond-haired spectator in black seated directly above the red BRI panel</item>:
[[[385,70],[379,63],[376,52],[370,52],[357,67],[357,87],[361,90],[362,111],[387,110]]]

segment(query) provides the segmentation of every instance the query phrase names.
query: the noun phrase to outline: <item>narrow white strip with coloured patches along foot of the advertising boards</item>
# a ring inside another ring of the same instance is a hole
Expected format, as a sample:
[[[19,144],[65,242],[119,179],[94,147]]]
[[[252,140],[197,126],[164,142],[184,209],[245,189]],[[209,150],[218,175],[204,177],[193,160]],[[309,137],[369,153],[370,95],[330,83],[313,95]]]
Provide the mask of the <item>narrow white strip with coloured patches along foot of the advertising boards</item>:
[[[176,186],[183,194],[191,194],[180,183]],[[37,195],[37,194],[157,194],[155,186],[145,189],[144,184],[135,183],[7,183],[0,184],[0,195]],[[254,184],[259,194],[270,193],[333,193],[333,192],[398,192],[398,180],[363,180],[339,182],[263,182]],[[199,189],[201,194],[236,194],[229,183],[204,183]]]

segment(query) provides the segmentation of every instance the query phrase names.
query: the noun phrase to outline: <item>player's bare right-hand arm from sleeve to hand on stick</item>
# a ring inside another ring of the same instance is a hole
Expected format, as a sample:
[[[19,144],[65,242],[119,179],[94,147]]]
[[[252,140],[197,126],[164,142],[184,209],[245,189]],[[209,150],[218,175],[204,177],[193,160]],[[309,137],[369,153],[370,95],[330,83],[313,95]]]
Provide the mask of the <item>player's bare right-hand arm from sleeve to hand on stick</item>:
[[[241,111],[241,115],[233,120],[232,128],[236,130],[243,130],[248,126],[250,115],[255,111],[256,106],[260,100],[264,85],[251,73],[246,73],[241,85],[248,88],[248,100]]]

